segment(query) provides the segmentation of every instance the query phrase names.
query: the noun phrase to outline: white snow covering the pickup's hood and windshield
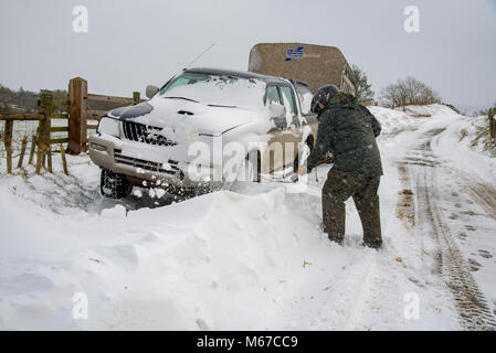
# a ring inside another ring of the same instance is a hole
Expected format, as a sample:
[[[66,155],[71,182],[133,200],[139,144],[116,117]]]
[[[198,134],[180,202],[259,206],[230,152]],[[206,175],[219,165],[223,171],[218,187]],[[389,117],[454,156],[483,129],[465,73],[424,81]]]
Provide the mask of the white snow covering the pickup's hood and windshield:
[[[117,108],[108,113],[120,120],[133,120],[165,128],[167,138],[196,140],[199,133],[221,135],[232,128],[263,119],[268,113],[263,101],[265,83],[214,79],[172,87],[147,103]],[[176,136],[170,136],[170,135]]]

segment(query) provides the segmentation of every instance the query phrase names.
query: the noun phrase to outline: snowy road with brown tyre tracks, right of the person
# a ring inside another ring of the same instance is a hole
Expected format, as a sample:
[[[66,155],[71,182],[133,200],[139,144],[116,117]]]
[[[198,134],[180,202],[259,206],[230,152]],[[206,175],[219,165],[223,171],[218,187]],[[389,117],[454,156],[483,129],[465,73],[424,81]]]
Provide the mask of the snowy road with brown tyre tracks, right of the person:
[[[492,259],[496,250],[496,191],[476,173],[467,173],[455,153],[445,153],[446,159],[439,156],[448,146],[443,135],[450,136],[452,124],[447,119],[425,125],[397,160],[403,186],[397,216],[413,229],[422,253],[433,255],[430,267],[442,278],[441,286],[451,291],[461,328],[495,330],[494,265],[479,261]],[[431,244],[430,250],[425,243]]]

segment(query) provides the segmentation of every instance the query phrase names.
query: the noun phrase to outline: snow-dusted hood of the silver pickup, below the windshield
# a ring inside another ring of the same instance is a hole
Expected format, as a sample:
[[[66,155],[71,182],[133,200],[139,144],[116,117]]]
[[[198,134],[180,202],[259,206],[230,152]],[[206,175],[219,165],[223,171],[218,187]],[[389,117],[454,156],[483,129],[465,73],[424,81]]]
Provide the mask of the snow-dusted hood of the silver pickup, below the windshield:
[[[151,127],[189,131],[188,135],[222,135],[253,121],[256,110],[239,107],[208,106],[180,98],[154,97],[149,101],[122,107],[107,116]]]

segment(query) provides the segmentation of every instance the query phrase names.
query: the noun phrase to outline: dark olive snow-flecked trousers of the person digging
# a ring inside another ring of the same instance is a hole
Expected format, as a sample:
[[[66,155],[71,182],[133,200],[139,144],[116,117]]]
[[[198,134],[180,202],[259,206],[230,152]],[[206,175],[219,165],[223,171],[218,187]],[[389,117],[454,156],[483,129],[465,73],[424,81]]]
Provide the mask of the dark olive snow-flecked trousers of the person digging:
[[[363,243],[382,243],[379,214],[380,176],[360,176],[329,171],[323,188],[324,232],[330,239],[342,242],[345,237],[345,201],[353,197],[363,228]]]

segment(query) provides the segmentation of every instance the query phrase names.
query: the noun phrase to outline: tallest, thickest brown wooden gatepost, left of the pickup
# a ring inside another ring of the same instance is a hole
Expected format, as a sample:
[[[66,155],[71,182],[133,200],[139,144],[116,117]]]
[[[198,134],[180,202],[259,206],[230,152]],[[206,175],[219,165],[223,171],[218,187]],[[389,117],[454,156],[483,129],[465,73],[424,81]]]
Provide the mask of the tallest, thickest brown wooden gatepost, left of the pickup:
[[[81,77],[68,82],[68,147],[71,154],[87,150],[87,81]]]

